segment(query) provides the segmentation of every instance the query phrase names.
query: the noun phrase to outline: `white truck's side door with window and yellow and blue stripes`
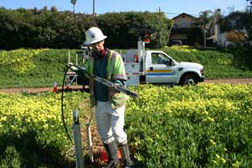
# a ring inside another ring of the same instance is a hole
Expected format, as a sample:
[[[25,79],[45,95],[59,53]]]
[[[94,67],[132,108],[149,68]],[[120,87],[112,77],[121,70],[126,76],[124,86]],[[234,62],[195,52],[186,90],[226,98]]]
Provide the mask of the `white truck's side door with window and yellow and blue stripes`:
[[[152,52],[146,64],[147,83],[176,82],[177,69],[175,62],[164,53]]]

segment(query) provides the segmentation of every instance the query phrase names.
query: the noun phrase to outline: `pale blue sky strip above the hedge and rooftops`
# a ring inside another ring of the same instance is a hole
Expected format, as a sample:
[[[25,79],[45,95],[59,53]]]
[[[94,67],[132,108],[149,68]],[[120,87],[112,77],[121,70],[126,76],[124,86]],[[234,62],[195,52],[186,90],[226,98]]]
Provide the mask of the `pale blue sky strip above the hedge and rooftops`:
[[[246,0],[95,0],[97,14],[126,11],[149,11],[166,13],[168,18],[173,18],[181,13],[197,17],[199,12],[205,10],[221,9],[222,14],[230,11],[244,11],[248,2]],[[73,11],[75,13],[93,13],[93,0],[77,0],[75,8],[71,0],[0,0],[0,7],[6,9],[38,8],[56,6],[58,11]]]

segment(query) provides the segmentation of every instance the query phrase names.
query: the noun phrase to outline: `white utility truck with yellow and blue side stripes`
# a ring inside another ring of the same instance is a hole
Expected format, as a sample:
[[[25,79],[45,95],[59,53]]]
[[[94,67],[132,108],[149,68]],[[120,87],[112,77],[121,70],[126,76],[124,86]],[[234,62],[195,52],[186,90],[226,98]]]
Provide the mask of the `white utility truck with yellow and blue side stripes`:
[[[177,62],[163,51],[145,50],[145,42],[138,41],[137,50],[122,54],[127,73],[127,85],[191,84],[204,81],[204,68],[198,63]]]

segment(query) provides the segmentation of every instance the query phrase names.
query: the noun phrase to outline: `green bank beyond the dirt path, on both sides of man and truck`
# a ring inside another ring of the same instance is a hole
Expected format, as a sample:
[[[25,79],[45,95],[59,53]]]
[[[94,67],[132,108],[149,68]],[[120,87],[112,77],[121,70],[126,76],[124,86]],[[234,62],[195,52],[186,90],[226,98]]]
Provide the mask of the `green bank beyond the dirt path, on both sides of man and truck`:
[[[162,48],[177,61],[197,62],[205,67],[206,79],[252,77],[251,49],[197,50],[183,47]],[[20,49],[0,51],[0,88],[52,87],[62,84],[68,49]]]

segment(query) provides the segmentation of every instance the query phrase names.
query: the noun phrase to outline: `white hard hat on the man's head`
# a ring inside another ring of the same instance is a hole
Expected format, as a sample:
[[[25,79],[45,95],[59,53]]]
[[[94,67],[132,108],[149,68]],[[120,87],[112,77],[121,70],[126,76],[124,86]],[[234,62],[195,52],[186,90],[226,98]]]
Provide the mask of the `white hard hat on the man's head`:
[[[86,31],[86,41],[85,45],[90,45],[93,43],[97,43],[106,39],[107,36],[104,36],[101,29],[97,27],[91,27]]]

